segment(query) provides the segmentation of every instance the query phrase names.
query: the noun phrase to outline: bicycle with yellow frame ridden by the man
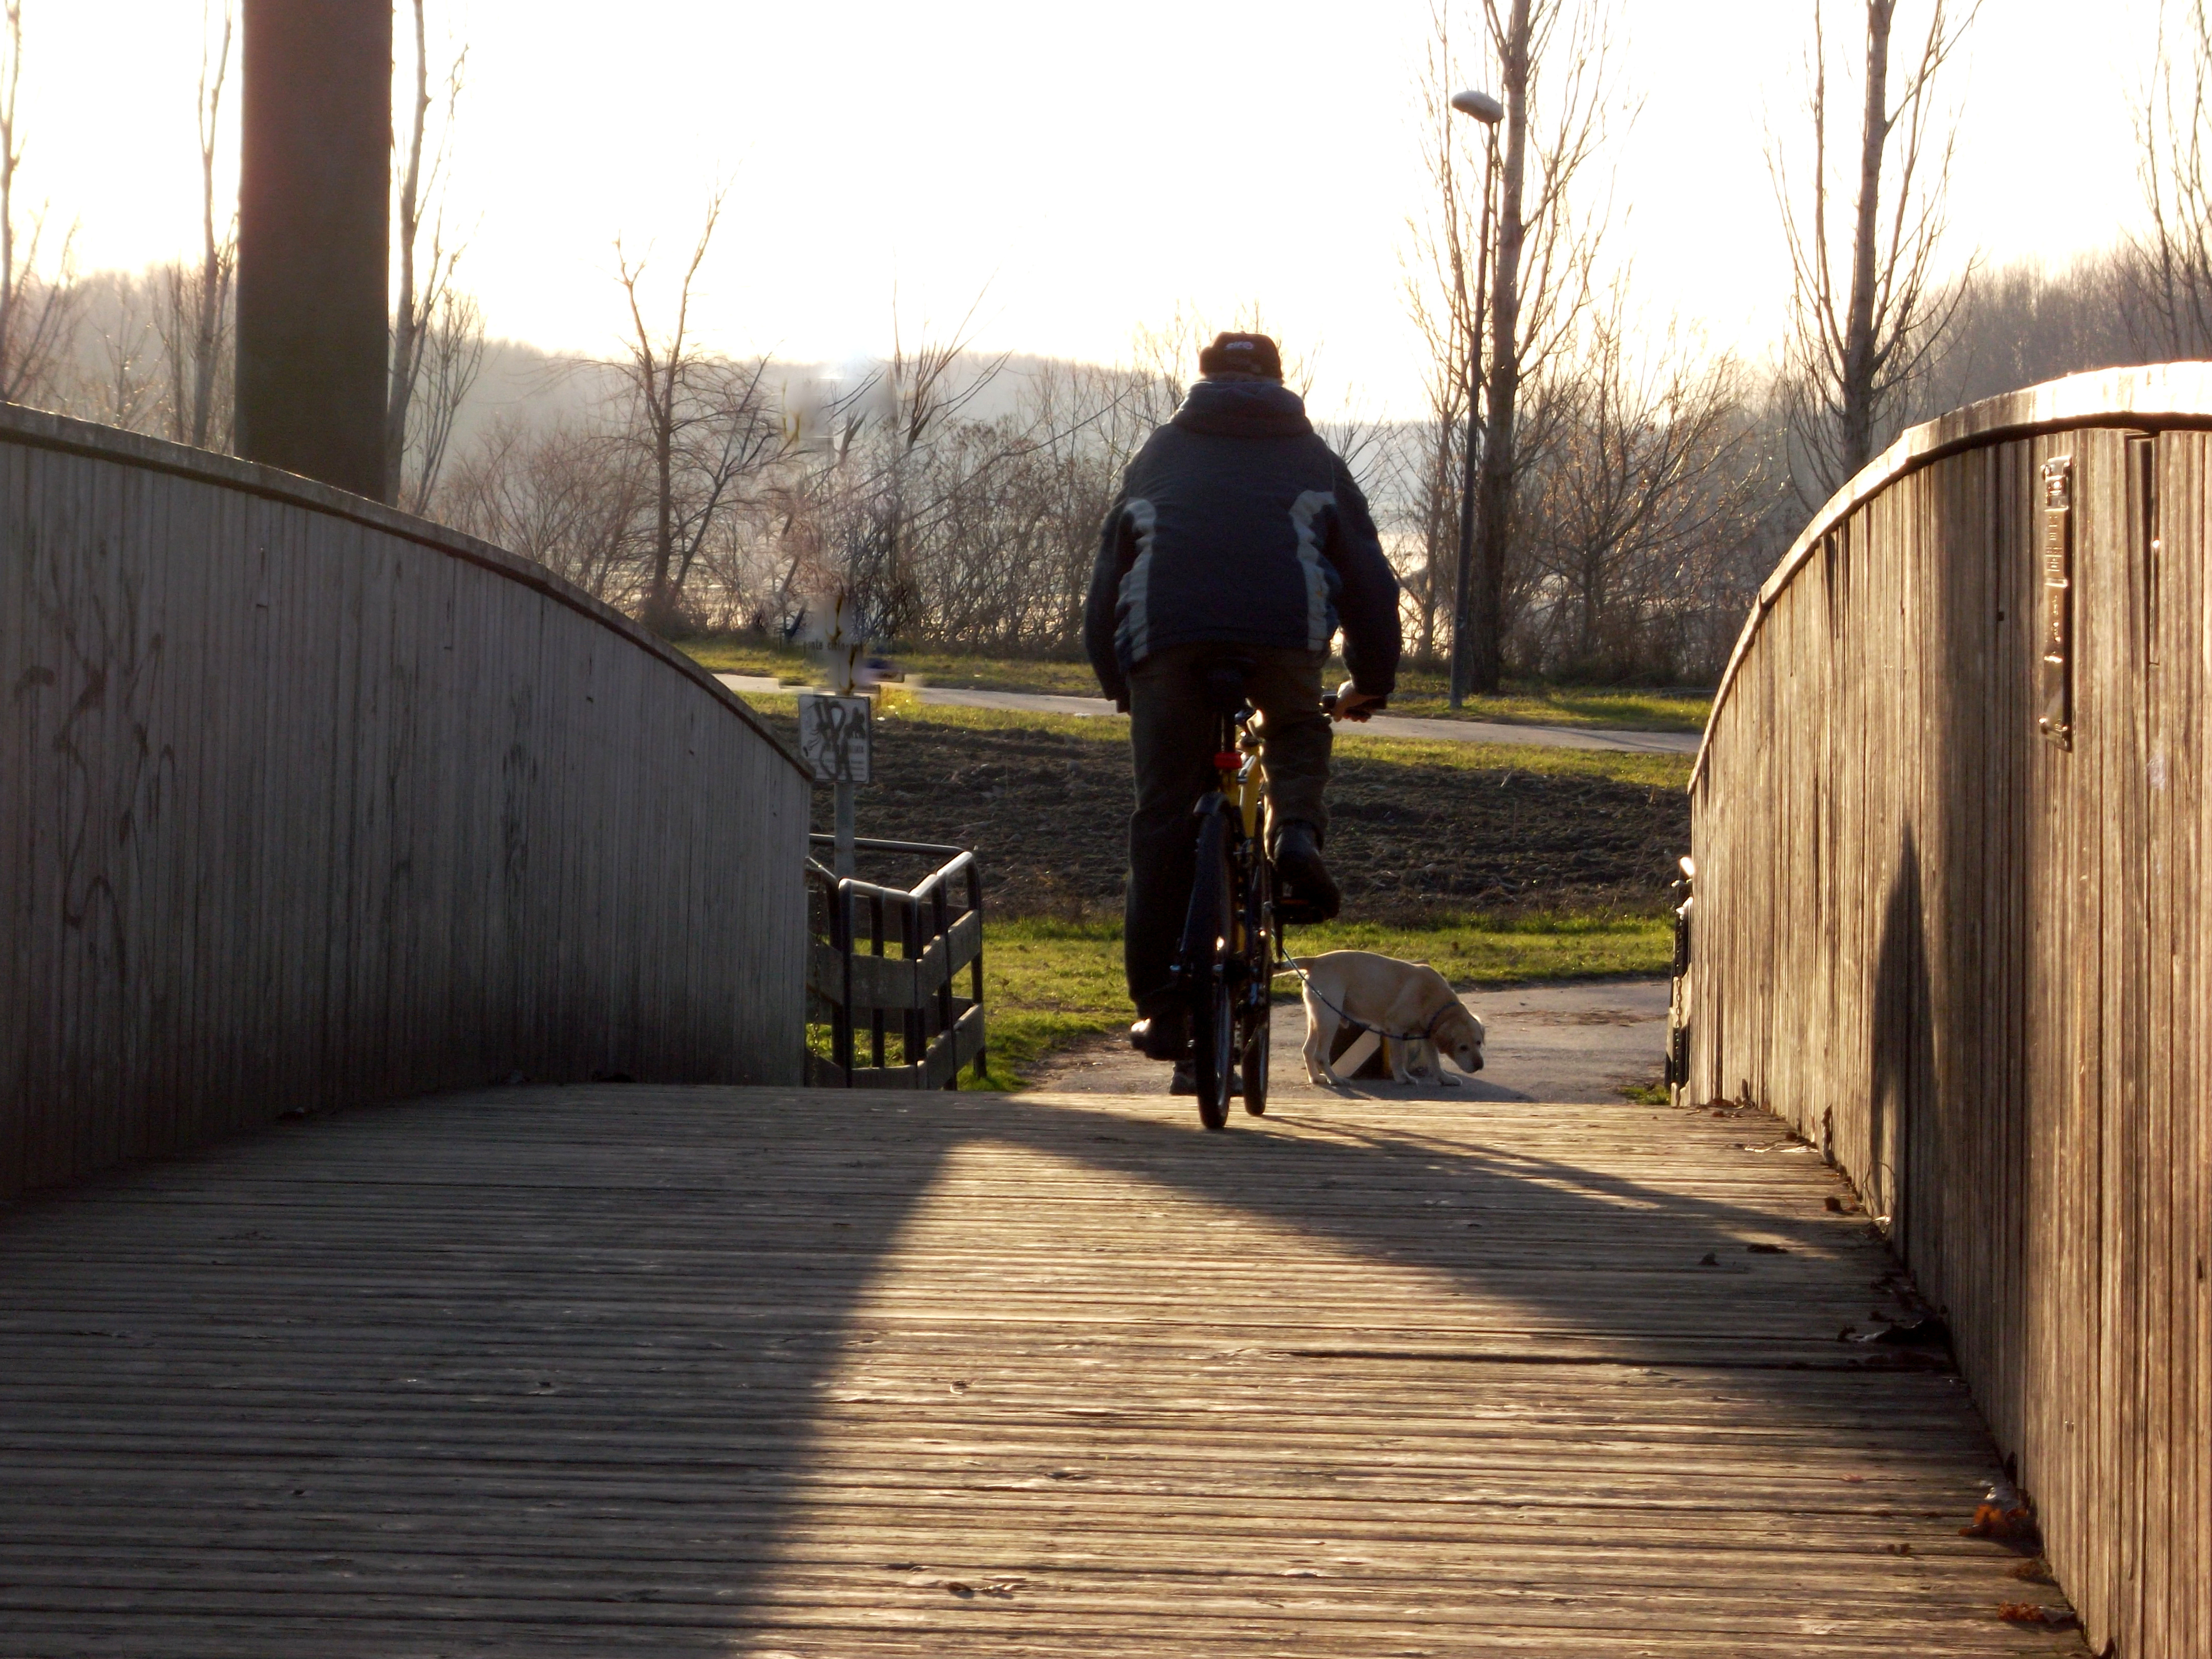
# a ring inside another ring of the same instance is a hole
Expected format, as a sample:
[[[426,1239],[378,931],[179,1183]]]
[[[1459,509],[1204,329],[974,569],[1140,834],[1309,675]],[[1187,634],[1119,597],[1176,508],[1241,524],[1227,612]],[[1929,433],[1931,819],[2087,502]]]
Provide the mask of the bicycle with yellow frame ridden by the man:
[[[1197,867],[1172,969],[1188,998],[1190,1071],[1206,1128],[1228,1128],[1232,1095],[1243,1095],[1252,1117],[1267,1113],[1267,1037],[1283,918],[1276,914],[1274,858],[1265,838],[1267,774],[1259,710],[1245,699],[1248,675],[1250,664],[1228,659],[1206,677],[1219,721],[1219,776],[1194,807]],[[1327,695],[1321,708],[1334,717],[1336,701]],[[1376,701],[1367,712],[1378,708],[1385,703]],[[1365,719],[1367,712],[1349,719]]]

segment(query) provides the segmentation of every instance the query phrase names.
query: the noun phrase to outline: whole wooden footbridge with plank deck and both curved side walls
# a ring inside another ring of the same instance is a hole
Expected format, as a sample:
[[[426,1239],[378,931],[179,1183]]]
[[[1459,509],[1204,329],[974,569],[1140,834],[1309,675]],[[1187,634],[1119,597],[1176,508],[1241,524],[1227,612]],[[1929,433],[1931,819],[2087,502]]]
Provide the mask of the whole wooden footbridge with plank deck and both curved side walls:
[[[0,409],[0,1659],[2199,1659],[2208,447],[2208,369],[2068,383],[1814,522],[1674,1106],[1206,1137],[799,1093],[737,697]],[[1960,1369],[1858,1340],[1900,1256]]]

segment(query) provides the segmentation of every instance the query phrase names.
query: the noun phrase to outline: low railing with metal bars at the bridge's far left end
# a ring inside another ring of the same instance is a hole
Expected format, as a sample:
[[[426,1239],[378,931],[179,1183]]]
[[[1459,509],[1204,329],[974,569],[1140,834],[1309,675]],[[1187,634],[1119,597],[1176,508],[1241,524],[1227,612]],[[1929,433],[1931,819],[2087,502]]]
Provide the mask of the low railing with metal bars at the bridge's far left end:
[[[810,836],[816,847],[834,836]],[[920,885],[838,878],[807,858],[807,1024],[830,1026],[830,1055],[807,1044],[807,1079],[830,1088],[956,1088],[984,1075],[982,872],[975,854],[927,841],[858,838],[863,854],[940,858]],[[885,956],[896,945],[898,956]],[[969,969],[969,995],[953,991]],[[867,1042],[867,1064],[856,1046]],[[889,1064],[898,1042],[900,1064]]]

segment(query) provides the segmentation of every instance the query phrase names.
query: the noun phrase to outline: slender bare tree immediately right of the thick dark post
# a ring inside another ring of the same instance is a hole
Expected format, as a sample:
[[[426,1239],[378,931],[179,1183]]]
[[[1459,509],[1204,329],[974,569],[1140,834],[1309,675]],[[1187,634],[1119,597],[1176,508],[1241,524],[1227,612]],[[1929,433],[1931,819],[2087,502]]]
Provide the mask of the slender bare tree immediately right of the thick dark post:
[[[445,73],[445,119],[436,153],[429,146],[431,97],[427,0],[414,2],[414,97],[409,102],[407,148],[398,177],[398,296],[392,307],[392,374],[385,405],[385,500],[416,504],[429,500],[438,467],[482,363],[482,314],[453,290],[460,246],[445,234],[445,170],[453,135],[453,113],[467,80],[469,49],[462,46]],[[425,223],[429,248],[422,248]],[[473,334],[471,334],[473,325]],[[429,380],[425,385],[425,372]],[[420,394],[429,392],[427,407]],[[427,422],[427,429],[425,429]],[[409,476],[411,473],[411,476]]]

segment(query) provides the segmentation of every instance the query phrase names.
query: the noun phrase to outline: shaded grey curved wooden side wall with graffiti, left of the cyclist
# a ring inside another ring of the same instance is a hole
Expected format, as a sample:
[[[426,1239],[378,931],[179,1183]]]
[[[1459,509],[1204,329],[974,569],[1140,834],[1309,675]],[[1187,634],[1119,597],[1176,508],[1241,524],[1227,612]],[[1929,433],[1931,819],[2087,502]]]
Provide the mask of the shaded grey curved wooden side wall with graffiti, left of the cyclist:
[[[807,779],[540,566],[0,407],[0,1194],[509,1077],[796,1082]]]

